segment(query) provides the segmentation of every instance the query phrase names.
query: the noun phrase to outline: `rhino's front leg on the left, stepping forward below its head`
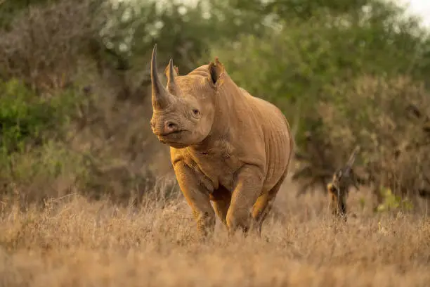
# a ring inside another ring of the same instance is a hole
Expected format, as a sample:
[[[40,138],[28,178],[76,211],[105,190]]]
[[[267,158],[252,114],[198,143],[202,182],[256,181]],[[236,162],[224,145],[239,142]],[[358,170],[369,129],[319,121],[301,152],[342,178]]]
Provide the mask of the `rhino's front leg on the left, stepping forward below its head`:
[[[200,238],[211,236],[215,229],[215,212],[209,200],[209,191],[197,181],[195,172],[183,162],[174,166],[179,187],[190,205],[197,223],[197,232]]]

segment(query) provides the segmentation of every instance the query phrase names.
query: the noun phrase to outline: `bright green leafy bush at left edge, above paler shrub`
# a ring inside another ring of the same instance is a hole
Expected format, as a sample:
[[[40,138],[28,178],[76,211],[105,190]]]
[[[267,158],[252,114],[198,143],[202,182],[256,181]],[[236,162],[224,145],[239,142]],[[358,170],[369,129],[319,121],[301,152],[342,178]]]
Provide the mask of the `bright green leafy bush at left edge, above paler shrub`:
[[[41,145],[48,135],[60,136],[75,100],[72,91],[43,98],[18,79],[0,83],[1,154],[22,153],[27,146]]]

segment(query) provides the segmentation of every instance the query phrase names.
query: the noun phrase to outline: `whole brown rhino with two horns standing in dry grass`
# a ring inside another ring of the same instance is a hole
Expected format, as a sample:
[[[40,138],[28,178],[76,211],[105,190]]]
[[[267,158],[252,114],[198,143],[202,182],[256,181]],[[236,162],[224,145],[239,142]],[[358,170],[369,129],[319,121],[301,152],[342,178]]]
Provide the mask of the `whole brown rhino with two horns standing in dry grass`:
[[[218,59],[183,76],[170,60],[163,87],[156,53],[157,45],[151,62],[150,124],[159,141],[170,146],[197,230],[203,237],[212,234],[218,215],[230,235],[240,228],[260,236],[292,155],[285,116],[237,87]]]

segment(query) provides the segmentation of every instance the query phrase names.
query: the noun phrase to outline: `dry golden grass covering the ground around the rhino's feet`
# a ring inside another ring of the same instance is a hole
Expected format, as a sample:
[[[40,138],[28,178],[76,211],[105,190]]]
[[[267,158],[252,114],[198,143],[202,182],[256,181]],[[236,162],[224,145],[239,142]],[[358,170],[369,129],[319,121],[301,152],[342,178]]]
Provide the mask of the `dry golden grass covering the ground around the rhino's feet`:
[[[46,209],[2,207],[1,286],[429,286],[430,222],[417,215],[331,219],[323,196],[287,183],[261,240],[217,224],[195,241],[182,198],[164,208],[118,208],[76,196]],[[355,201],[354,201],[355,200]]]

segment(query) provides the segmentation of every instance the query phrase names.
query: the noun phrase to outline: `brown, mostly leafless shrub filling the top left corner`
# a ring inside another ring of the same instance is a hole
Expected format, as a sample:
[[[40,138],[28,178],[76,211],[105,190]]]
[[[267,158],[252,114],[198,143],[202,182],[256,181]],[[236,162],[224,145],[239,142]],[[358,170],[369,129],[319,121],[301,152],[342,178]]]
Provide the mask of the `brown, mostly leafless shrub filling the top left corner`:
[[[47,2],[20,5],[11,29],[0,30],[0,77],[19,77],[37,91],[71,84],[100,32],[101,1]]]

